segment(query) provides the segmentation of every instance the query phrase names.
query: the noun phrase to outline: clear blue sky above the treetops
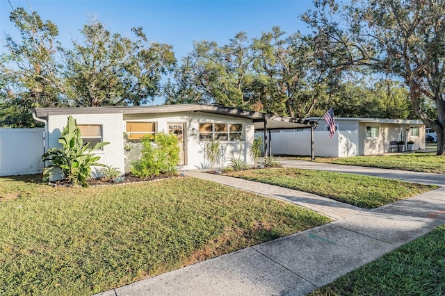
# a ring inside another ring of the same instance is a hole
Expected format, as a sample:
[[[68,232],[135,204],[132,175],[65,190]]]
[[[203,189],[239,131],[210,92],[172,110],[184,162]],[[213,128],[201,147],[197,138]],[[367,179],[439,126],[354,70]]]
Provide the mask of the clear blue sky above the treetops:
[[[59,40],[70,47],[72,38],[80,38],[80,29],[89,15],[94,15],[112,33],[131,36],[131,28],[142,26],[151,42],[173,46],[178,60],[193,49],[193,41],[216,41],[227,44],[236,33],[249,38],[280,26],[283,31],[309,32],[299,15],[312,6],[312,0],[29,0],[31,8],[43,20],[59,28]],[[28,1],[10,0],[14,8],[29,10]],[[11,8],[0,0],[1,44],[4,33],[17,36],[9,21]],[[3,46],[1,51],[3,51]]]

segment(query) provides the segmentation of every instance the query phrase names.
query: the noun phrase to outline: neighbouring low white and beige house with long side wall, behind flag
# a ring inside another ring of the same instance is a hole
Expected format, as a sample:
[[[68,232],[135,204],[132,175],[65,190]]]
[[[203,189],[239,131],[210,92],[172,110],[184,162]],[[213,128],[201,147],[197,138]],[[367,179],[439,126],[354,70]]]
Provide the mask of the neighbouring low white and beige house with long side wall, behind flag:
[[[425,149],[425,126],[421,120],[396,120],[378,118],[336,117],[337,132],[329,138],[329,127],[323,119],[309,117],[318,121],[315,129],[315,156],[348,157],[357,155],[382,154],[398,151],[391,147],[391,141],[403,141],[403,151]],[[298,130],[275,130],[272,138],[274,155],[308,155],[309,134]],[[412,140],[414,145],[408,145]]]

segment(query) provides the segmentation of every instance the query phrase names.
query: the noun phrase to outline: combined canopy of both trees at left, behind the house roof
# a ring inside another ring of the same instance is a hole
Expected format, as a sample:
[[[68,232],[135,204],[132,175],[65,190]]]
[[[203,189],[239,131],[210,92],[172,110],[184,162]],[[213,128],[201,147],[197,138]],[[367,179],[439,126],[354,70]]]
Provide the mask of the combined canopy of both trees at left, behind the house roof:
[[[111,33],[93,19],[81,42],[63,47],[58,28],[38,13],[17,8],[0,59],[0,126],[34,126],[29,108],[145,104],[160,94],[161,79],[176,63],[172,47],[149,43],[143,28],[133,38]]]

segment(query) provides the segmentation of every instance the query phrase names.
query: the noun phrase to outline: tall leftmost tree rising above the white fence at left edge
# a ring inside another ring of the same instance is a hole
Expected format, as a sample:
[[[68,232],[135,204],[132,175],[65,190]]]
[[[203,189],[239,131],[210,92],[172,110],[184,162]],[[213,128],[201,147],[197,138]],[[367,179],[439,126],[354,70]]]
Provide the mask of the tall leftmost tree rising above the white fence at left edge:
[[[0,60],[0,126],[33,126],[29,108],[63,106],[66,85],[61,78],[58,28],[35,13],[17,8],[10,21],[20,32],[21,42],[6,35],[8,51]]]

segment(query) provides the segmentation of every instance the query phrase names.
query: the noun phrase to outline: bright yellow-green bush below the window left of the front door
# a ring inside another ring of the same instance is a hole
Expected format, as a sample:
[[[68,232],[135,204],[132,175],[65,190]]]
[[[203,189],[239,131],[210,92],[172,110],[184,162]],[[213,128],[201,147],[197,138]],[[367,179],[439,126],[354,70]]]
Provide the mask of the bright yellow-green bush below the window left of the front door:
[[[142,156],[131,163],[131,172],[140,177],[176,174],[179,163],[179,142],[172,133],[157,133],[142,138]]]

